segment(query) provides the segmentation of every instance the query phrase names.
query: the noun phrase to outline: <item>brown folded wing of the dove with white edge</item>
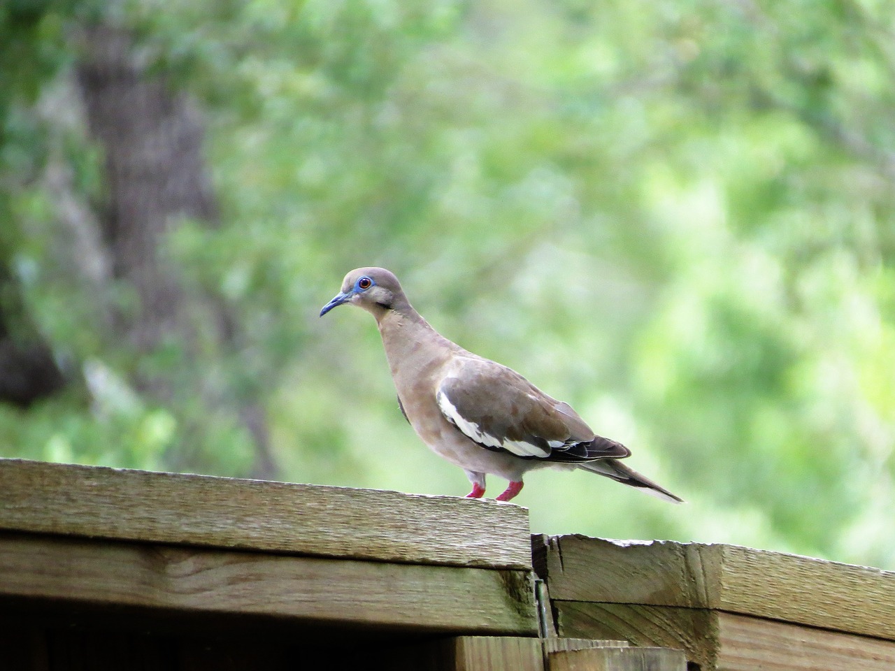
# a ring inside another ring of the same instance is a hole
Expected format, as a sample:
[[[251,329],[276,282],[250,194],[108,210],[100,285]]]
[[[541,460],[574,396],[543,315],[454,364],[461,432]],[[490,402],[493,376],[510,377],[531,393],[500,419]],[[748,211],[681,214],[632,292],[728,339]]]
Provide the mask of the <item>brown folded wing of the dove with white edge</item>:
[[[473,442],[522,459],[574,463],[631,454],[594,434],[567,403],[494,361],[457,358],[436,400],[445,419]]]

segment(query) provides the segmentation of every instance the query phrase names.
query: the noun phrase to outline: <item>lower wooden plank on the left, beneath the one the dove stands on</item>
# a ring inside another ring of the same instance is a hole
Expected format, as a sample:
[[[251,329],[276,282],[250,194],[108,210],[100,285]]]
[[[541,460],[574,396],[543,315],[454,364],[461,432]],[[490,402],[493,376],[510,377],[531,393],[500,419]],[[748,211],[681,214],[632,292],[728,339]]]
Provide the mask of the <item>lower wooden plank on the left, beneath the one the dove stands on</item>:
[[[294,618],[405,633],[537,633],[524,571],[0,532],[0,597]]]

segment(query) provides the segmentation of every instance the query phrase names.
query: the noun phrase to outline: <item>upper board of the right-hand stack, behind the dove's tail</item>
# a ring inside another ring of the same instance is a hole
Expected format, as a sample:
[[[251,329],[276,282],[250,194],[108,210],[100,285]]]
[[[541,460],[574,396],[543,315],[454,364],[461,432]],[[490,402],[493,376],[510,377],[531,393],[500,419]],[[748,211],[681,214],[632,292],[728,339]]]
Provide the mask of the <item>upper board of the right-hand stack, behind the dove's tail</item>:
[[[879,569],[729,545],[583,536],[550,538],[542,554],[536,564],[551,599],[714,608],[895,639],[895,573]]]

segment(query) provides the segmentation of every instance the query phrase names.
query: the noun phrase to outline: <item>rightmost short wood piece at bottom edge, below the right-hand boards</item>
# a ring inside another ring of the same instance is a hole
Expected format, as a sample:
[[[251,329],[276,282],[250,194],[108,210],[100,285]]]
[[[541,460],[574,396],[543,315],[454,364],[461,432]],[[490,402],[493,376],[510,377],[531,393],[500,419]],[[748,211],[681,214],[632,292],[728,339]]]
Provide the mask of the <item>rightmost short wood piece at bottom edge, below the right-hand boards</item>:
[[[548,657],[548,671],[686,671],[680,650],[667,648],[586,648]]]

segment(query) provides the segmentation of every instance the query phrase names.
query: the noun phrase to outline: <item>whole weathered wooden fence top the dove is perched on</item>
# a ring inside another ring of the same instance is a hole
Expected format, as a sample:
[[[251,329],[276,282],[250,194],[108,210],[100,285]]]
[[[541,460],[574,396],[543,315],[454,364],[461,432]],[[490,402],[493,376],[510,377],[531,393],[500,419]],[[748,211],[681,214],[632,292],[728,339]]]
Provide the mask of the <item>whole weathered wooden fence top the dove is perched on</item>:
[[[895,574],[456,497],[0,460],[0,669],[895,669]]]

